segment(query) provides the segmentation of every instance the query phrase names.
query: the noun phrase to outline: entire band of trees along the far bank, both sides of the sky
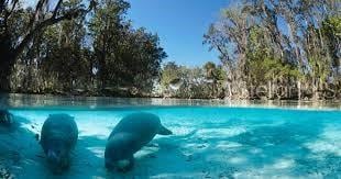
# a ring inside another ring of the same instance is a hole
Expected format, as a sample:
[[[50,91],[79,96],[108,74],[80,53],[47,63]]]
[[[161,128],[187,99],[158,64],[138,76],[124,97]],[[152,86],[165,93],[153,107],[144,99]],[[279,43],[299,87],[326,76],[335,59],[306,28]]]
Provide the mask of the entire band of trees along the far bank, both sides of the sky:
[[[188,68],[134,29],[124,0],[0,1],[0,91],[339,99],[339,0],[242,0],[204,36],[221,64]],[[222,7],[223,8],[223,7]],[[189,49],[190,51],[190,49]]]

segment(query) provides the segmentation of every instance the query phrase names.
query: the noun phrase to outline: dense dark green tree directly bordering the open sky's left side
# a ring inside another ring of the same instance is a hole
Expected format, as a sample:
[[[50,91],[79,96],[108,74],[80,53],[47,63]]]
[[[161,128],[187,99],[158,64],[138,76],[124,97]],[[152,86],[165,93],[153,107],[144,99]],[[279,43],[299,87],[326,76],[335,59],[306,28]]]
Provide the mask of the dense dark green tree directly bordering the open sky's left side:
[[[167,55],[157,35],[145,29],[132,29],[124,18],[129,7],[123,0],[100,1],[90,20],[99,87],[151,92],[160,76],[161,61]]]

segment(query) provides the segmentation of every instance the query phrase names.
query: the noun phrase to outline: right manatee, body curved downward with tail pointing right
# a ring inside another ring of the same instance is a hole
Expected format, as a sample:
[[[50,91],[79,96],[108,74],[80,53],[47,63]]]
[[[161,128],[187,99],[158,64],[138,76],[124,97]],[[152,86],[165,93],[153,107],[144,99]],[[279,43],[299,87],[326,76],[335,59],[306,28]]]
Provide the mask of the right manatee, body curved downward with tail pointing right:
[[[160,118],[151,113],[133,113],[123,118],[112,130],[105,153],[106,168],[128,171],[134,165],[134,154],[156,134],[170,135]]]

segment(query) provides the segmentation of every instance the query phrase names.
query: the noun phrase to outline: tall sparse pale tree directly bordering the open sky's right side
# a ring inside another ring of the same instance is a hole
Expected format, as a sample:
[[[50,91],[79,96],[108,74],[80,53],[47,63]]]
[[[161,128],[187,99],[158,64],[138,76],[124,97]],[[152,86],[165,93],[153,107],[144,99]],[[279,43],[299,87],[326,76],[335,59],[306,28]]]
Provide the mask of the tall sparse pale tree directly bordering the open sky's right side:
[[[224,9],[222,19],[212,24],[205,35],[205,43],[220,52],[220,59],[228,67],[230,81],[228,86],[234,87],[231,90],[245,89],[248,34],[252,23],[248,13],[243,11],[243,7],[237,4]],[[237,96],[243,98],[245,91],[238,91]]]

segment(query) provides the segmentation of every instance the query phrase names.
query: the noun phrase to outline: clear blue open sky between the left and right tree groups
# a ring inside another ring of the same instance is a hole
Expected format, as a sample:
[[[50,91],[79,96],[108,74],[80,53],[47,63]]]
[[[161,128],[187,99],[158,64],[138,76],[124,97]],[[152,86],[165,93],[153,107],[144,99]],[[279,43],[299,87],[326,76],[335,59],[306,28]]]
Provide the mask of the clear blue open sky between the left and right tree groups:
[[[206,61],[219,63],[218,53],[202,45],[204,34],[220,16],[229,0],[128,0],[128,19],[134,27],[144,26],[157,33],[168,57],[189,67]]]

